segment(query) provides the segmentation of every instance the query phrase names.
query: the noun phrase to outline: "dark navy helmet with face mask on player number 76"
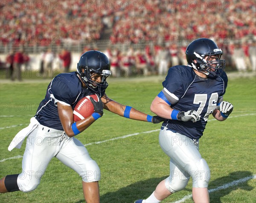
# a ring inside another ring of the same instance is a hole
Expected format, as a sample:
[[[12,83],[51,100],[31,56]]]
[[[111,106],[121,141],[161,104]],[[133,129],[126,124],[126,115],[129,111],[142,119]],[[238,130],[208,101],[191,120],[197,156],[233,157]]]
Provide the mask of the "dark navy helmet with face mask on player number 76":
[[[186,48],[188,65],[208,77],[221,75],[225,68],[225,60],[221,60],[222,54],[216,43],[207,38],[196,39]]]

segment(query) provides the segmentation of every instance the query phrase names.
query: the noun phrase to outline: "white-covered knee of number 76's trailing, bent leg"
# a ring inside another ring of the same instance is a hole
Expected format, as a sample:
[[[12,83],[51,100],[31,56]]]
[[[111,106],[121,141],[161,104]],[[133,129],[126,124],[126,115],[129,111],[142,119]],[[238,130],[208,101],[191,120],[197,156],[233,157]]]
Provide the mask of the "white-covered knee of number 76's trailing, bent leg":
[[[189,182],[189,176],[186,177],[184,175],[170,175],[165,179],[165,186],[170,192],[179,192],[183,190]]]

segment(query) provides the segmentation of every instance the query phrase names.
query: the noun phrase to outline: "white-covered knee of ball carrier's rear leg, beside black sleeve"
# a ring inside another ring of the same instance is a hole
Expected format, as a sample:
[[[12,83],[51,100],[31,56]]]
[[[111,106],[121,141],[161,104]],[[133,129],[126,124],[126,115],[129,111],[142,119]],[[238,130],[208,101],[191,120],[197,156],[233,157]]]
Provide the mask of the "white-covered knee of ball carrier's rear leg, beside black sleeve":
[[[31,192],[37,188],[42,175],[22,172],[17,178],[17,185],[22,192]]]

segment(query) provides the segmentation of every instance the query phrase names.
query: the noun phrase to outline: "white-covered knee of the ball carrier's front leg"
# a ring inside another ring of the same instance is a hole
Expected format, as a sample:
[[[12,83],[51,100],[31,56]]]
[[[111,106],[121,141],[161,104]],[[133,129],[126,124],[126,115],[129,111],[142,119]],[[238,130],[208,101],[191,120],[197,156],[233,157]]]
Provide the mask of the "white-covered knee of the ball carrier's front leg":
[[[84,182],[96,182],[100,180],[100,169],[96,161],[85,161],[85,169],[79,174]]]

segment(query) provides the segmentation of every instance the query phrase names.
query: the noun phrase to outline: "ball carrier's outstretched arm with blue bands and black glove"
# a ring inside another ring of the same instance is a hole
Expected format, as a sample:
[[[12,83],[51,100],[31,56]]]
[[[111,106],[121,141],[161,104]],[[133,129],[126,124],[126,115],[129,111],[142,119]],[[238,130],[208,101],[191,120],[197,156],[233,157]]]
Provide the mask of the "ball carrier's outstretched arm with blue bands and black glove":
[[[108,98],[106,94],[104,94],[101,99],[104,104],[104,109],[109,110],[112,113],[116,113],[119,116],[152,123],[160,123],[164,121],[164,119],[160,118],[159,116],[150,116],[134,109],[133,107],[122,105],[116,101],[113,101],[112,99]]]

